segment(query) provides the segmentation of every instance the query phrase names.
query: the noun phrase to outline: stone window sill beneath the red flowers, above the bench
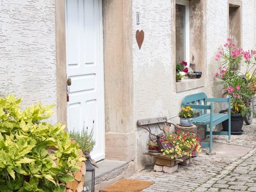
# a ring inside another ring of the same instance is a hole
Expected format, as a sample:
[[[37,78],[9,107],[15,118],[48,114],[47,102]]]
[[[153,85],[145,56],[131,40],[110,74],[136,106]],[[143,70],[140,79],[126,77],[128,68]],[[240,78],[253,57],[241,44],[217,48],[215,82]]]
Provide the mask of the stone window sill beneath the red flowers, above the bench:
[[[176,82],[176,92],[185,92],[204,86],[204,77],[200,79],[182,79],[180,82]]]

